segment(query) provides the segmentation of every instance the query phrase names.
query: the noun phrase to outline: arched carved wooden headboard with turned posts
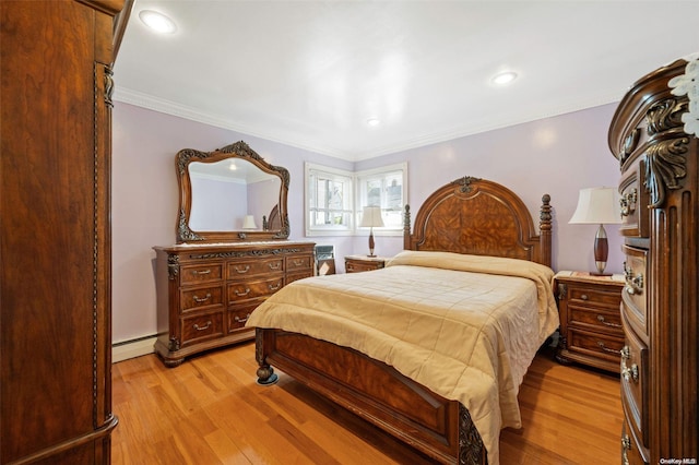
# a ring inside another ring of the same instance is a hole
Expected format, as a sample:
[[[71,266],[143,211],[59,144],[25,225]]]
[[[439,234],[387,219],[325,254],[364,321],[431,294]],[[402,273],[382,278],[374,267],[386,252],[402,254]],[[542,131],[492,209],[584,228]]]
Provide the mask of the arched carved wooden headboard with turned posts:
[[[552,265],[550,196],[542,198],[540,234],[522,200],[505,186],[470,176],[427,198],[411,234],[410,205],[403,226],[406,250],[509,257]]]

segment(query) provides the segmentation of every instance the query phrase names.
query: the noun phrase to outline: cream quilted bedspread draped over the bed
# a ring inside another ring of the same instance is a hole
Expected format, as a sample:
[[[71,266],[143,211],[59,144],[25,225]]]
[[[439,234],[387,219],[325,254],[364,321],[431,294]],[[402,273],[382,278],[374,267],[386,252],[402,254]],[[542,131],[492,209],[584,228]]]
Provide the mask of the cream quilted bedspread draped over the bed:
[[[461,402],[497,465],[500,429],[521,427],[524,373],[558,327],[553,275],[523,260],[404,251],[383,270],[294,282],[247,325],[352,347]]]

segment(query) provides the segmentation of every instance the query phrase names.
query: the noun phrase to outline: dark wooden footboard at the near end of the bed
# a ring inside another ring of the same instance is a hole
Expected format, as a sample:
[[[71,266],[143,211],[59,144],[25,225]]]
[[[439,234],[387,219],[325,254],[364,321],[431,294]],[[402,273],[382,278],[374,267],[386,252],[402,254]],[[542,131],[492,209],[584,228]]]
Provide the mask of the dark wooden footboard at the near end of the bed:
[[[258,327],[258,382],[276,380],[272,365],[443,464],[486,464],[471,416],[392,367],[347,347]]]

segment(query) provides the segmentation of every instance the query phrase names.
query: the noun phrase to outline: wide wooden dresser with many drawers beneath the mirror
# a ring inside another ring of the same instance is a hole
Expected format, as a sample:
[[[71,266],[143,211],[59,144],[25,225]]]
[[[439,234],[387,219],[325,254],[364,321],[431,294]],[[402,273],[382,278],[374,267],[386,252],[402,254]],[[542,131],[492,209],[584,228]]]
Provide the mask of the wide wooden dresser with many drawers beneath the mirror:
[[[185,357],[254,338],[250,313],[287,284],[313,275],[313,242],[264,241],[156,247],[155,351]]]

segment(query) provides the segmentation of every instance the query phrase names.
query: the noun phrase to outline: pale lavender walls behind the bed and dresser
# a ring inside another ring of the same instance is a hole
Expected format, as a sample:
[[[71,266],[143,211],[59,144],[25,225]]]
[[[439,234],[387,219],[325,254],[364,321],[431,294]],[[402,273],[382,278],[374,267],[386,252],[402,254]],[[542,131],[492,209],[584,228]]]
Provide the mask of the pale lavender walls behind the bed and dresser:
[[[503,183],[538,218],[541,196],[554,206],[554,269],[592,270],[595,226],[568,225],[578,191],[616,186],[618,165],[606,146],[615,105],[489,131],[440,144],[351,163],[277,142],[185,120],[117,102],[112,142],[112,331],[114,342],[152,336],[155,323],[155,252],[175,242],[177,179],[175,154],[181,148],[212,151],[239,140],[273,165],[289,170],[288,211],[292,239],[304,237],[304,163],[363,170],[399,162],[408,164],[408,203],[413,212],[438,187],[462,176]],[[621,269],[618,227],[609,236],[608,271]],[[367,253],[367,238],[313,237],[334,245],[342,258]],[[377,237],[376,253],[402,250],[402,237]]]

